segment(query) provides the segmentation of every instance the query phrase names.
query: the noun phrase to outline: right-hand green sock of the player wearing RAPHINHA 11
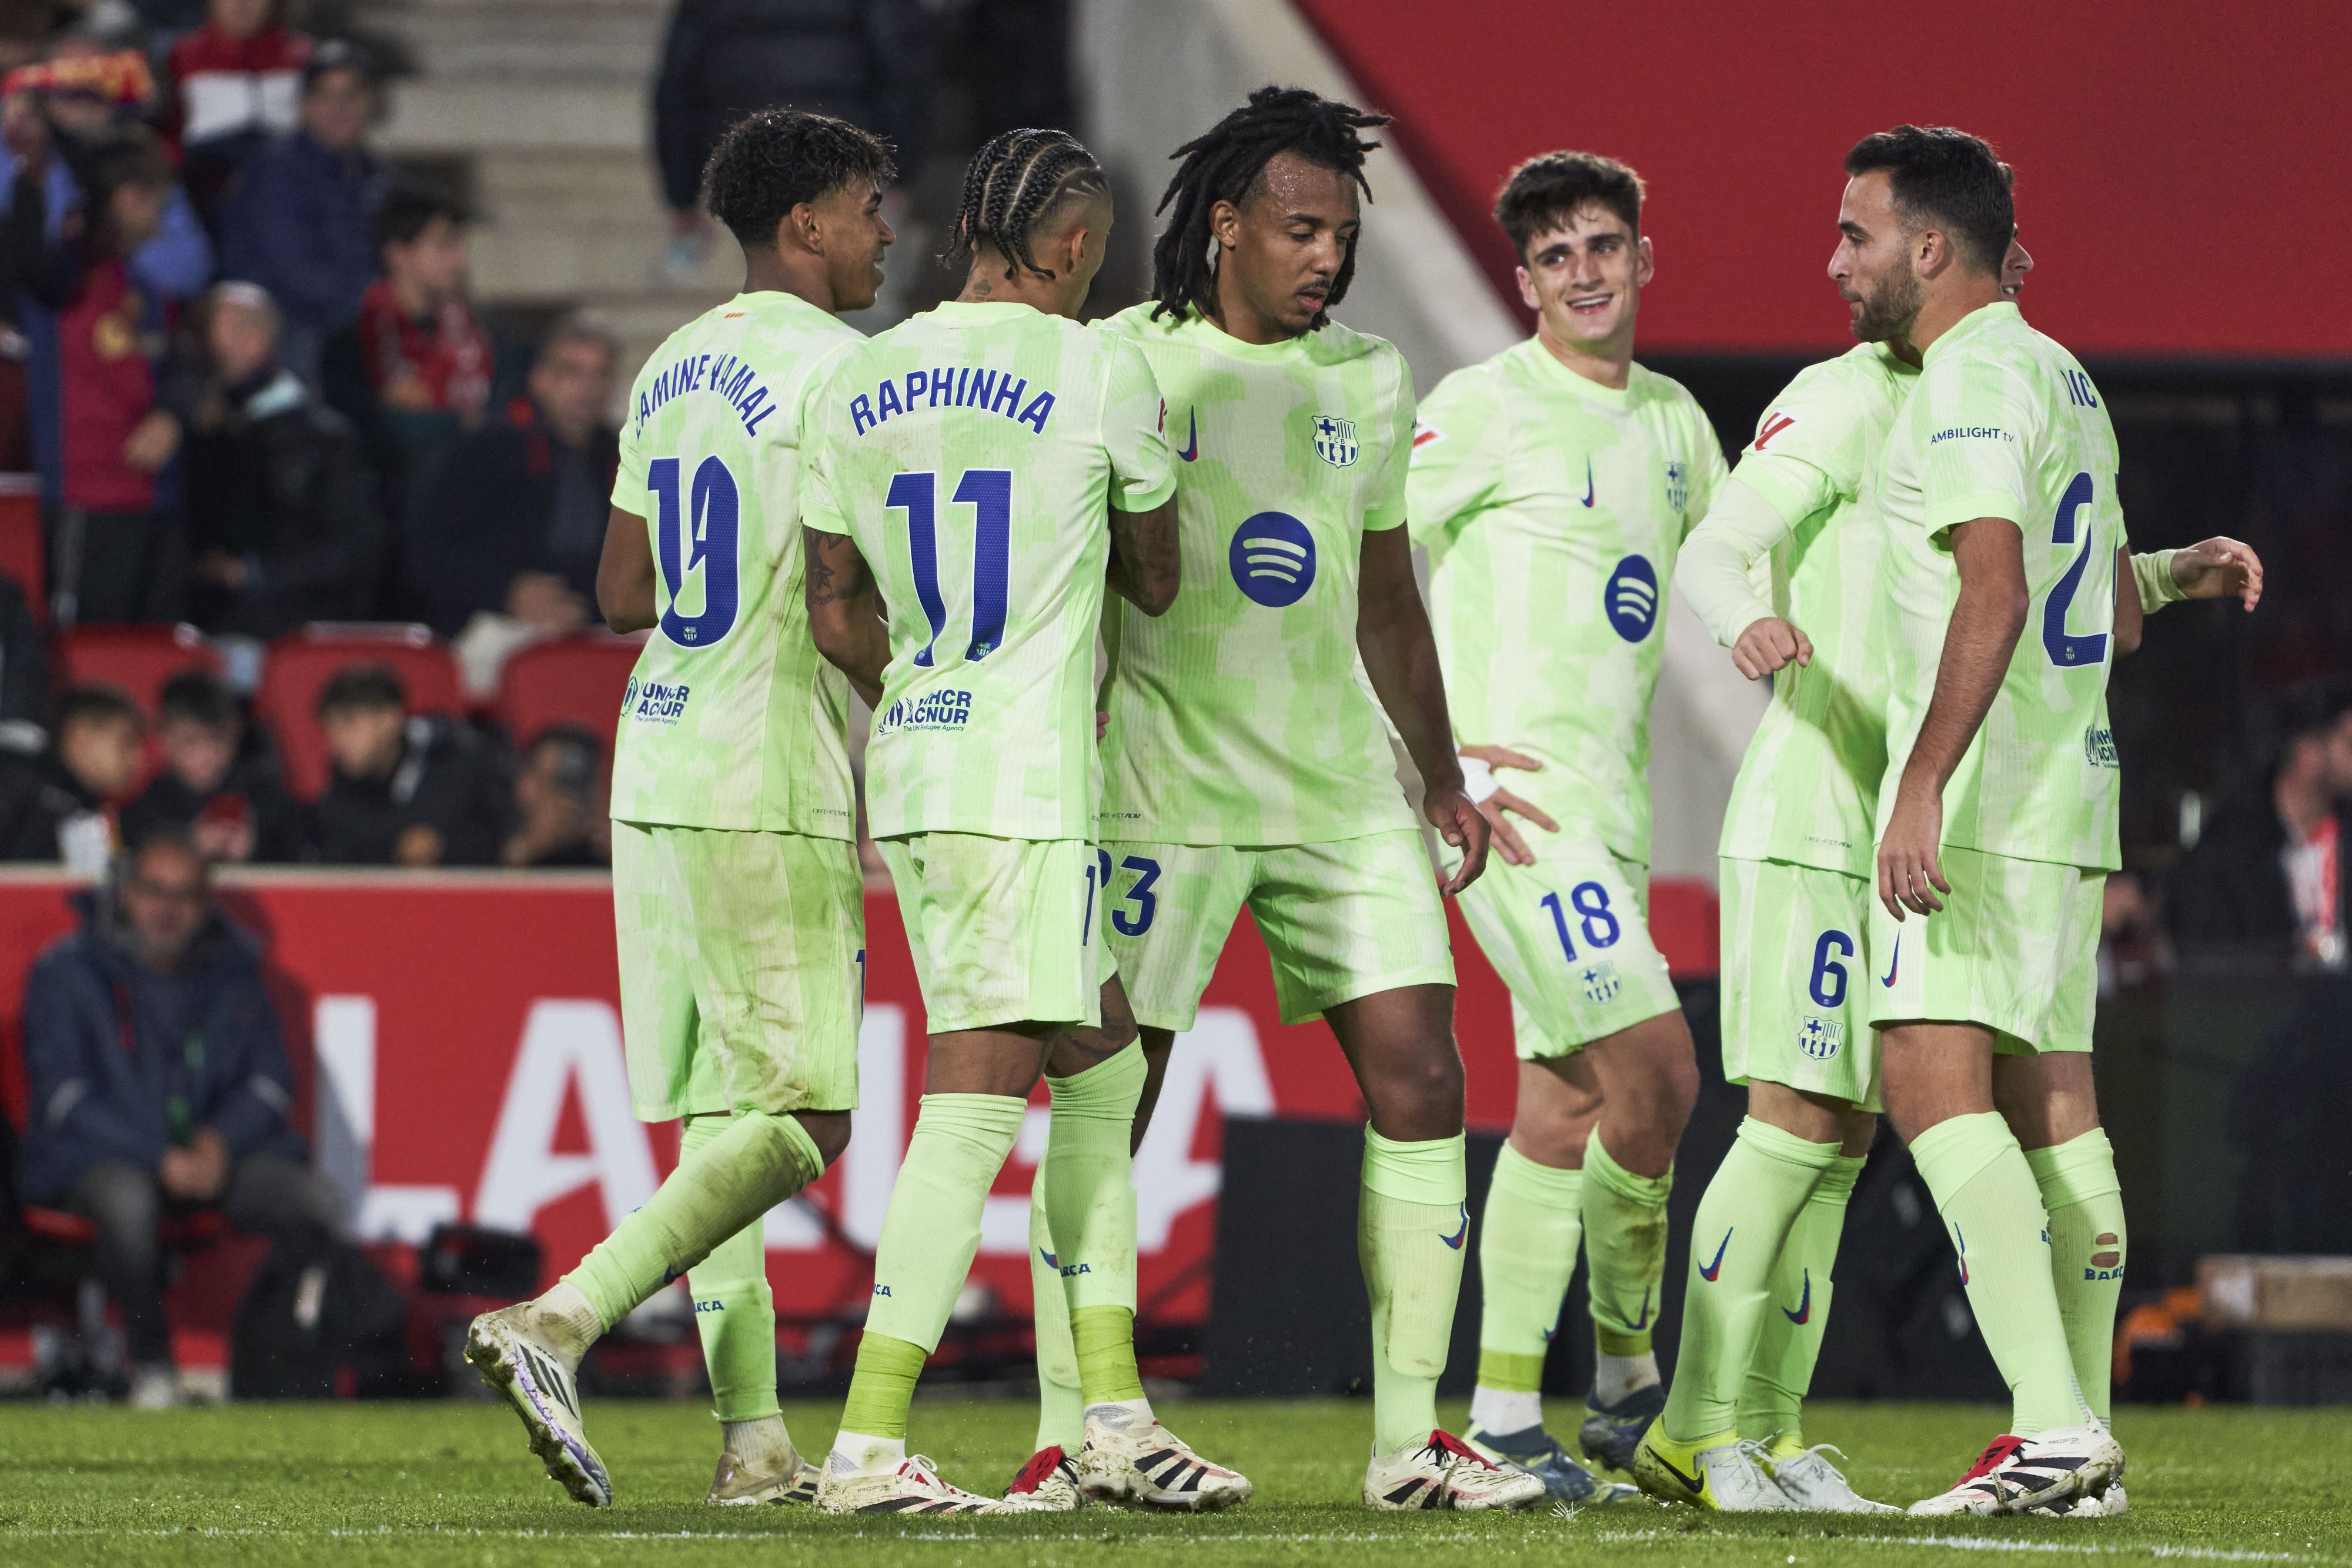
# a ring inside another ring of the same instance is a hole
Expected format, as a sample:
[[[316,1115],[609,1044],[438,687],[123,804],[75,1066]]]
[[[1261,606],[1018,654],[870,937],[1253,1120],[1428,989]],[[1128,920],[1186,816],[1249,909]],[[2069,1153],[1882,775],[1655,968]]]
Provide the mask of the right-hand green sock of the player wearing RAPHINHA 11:
[[[1127,1145],[1143,1100],[1141,1046],[1049,1077],[1054,1124],[1037,1185],[1056,1239],[1077,1382],[1089,1406],[1143,1399],[1136,1371],[1136,1187]]]

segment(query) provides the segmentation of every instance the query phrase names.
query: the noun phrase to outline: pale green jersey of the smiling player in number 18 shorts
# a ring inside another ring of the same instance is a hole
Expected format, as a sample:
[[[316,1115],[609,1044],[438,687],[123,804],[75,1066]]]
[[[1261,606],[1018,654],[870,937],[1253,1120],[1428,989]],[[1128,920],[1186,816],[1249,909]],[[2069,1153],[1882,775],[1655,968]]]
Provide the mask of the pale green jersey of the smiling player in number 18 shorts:
[[[1454,736],[1543,759],[1515,795],[1649,863],[1649,698],[1682,538],[1726,473],[1679,381],[1585,381],[1529,339],[1430,393],[1414,541]]]

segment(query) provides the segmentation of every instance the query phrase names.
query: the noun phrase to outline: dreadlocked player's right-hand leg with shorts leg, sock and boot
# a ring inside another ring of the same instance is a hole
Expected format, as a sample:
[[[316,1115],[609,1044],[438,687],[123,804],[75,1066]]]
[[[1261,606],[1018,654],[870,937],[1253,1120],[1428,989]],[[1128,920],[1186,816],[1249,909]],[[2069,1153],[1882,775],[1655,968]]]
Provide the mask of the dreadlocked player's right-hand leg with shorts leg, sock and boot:
[[[1470,1211],[1454,957],[1421,835],[1268,849],[1251,860],[1249,907],[1282,1020],[1331,1025],[1371,1112],[1357,1194],[1357,1258],[1371,1295],[1364,1502],[1534,1507],[1541,1481],[1437,1427]]]

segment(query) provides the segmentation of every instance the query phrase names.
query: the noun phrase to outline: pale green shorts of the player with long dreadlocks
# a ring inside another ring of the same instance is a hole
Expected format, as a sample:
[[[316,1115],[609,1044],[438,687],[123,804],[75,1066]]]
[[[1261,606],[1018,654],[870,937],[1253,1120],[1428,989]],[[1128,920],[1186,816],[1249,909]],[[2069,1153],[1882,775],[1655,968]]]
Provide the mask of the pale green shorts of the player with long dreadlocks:
[[[1190,1030],[1232,922],[1249,907],[1282,1023],[1402,985],[1454,985],[1454,945],[1421,835],[1329,844],[1103,844],[1110,952],[1136,1023]]]

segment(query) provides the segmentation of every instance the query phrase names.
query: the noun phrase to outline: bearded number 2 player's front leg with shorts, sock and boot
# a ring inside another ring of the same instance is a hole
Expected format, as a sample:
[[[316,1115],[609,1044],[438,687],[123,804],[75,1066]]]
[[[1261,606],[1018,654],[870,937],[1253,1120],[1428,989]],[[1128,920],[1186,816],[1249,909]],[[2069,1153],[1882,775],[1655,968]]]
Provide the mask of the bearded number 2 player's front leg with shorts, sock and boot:
[[[2009,1514],[2105,1490],[2122,1469],[2122,1450],[2074,1380],[2042,1192],[1992,1105],[1997,1039],[2032,1039],[2049,1023],[2079,872],[1955,846],[1943,851],[1943,872],[1952,893],[1940,914],[1898,924],[1872,912],[1872,966],[1889,954],[1872,1025],[1886,1114],[1952,1232],[2013,1415],[1952,1490],[1915,1512]],[[2056,889],[2058,872],[2065,889]]]

